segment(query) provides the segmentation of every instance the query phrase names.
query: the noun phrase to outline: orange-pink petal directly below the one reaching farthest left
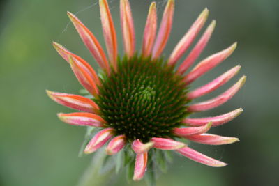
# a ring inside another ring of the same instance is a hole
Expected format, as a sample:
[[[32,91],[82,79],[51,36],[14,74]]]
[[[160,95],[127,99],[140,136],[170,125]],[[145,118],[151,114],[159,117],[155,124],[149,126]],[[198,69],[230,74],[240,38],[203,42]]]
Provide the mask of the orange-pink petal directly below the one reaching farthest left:
[[[86,112],[75,112],[70,114],[57,114],[61,121],[70,125],[104,127],[105,120],[96,114]]]

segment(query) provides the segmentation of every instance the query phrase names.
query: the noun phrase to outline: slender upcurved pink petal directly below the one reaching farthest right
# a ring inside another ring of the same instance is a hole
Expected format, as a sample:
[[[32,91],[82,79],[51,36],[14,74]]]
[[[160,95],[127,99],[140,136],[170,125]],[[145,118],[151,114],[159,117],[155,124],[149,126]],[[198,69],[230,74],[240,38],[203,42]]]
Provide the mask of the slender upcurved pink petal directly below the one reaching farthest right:
[[[201,126],[201,125],[206,125],[206,123],[209,123],[209,121],[211,121],[213,123],[212,126],[216,127],[233,120],[234,118],[239,116],[242,111],[243,109],[240,108],[220,116],[214,116],[208,118],[186,118],[182,121],[182,123],[185,123],[188,126]]]

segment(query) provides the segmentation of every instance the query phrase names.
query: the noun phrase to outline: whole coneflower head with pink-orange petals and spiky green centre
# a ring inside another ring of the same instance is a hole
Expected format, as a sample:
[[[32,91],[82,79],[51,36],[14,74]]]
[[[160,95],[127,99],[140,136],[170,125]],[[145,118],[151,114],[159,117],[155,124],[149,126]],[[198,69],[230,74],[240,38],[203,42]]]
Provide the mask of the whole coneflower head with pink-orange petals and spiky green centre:
[[[68,13],[84,44],[103,70],[99,75],[80,56],[69,52],[54,42],[57,52],[70,63],[78,81],[91,95],[84,97],[68,93],[47,91],[59,104],[82,112],[58,114],[61,121],[70,125],[102,128],[86,145],[84,153],[93,153],[106,147],[107,155],[119,153],[124,147],[133,149],[135,168],[133,180],[141,180],[149,165],[151,149],[175,150],[196,162],[209,166],[225,166],[224,162],[198,153],[181,139],[200,144],[231,144],[239,139],[208,134],[211,127],[223,125],[239,116],[243,109],[235,109],[227,114],[207,118],[188,118],[190,114],[207,111],[227,102],[243,86],[246,76],[216,98],[205,102],[191,103],[192,100],[211,93],[232,79],[240,70],[240,65],[228,70],[208,84],[194,91],[189,85],[206,72],[216,67],[234,52],[236,43],[199,62],[184,75],[206,47],[216,21],[206,28],[197,44],[181,65],[176,63],[193,43],[208,17],[205,8],[190,26],[188,32],[174,47],[168,59],[161,56],[172,28],[174,0],[169,0],[163,13],[156,36],[156,3],[151,3],[146,20],[142,50],[135,52],[135,29],[128,0],[120,1],[121,29],[125,56],[118,54],[116,31],[106,0],[100,0],[100,17],[107,54],[93,33],[72,13]]]

